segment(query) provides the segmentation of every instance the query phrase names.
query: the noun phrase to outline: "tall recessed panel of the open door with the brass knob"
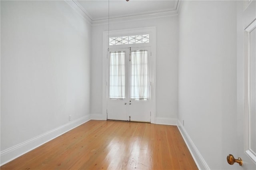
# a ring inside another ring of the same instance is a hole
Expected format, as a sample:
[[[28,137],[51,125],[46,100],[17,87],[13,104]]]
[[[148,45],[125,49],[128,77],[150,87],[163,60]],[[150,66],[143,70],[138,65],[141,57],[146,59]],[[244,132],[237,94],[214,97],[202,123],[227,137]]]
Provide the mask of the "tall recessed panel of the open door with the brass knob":
[[[256,154],[256,28],[250,32],[250,150]]]

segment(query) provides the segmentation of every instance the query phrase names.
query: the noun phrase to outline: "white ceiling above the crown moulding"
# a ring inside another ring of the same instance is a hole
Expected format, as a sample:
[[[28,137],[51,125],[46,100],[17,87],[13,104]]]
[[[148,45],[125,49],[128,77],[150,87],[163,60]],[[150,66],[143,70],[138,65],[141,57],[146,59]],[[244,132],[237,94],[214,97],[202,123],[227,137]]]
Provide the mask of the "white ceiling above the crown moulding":
[[[80,8],[92,21],[110,18],[175,11],[178,0],[77,0]]]

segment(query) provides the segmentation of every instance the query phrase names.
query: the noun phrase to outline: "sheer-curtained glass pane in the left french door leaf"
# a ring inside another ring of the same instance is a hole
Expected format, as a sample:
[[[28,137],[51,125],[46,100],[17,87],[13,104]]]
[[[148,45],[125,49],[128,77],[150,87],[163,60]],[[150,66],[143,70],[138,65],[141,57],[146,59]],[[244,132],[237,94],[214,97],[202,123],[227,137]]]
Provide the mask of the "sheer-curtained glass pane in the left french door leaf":
[[[125,98],[125,53],[123,51],[110,53],[109,98]]]

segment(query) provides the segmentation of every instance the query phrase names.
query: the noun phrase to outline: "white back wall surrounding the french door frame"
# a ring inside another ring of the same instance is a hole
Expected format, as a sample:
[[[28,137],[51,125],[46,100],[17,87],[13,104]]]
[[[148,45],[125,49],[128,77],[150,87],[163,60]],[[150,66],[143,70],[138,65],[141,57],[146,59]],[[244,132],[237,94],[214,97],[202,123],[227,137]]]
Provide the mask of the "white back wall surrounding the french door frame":
[[[110,30],[150,26],[156,26],[156,117],[177,119],[178,17],[110,23]],[[102,114],[102,37],[107,30],[107,25],[92,26],[92,114]]]

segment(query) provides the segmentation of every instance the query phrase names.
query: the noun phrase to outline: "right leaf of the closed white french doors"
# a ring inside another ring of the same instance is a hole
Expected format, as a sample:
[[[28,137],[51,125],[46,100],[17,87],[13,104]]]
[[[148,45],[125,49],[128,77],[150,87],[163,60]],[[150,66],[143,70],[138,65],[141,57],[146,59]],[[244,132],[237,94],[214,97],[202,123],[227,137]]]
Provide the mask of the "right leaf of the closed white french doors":
[[[152,93],[150,56],[149,47],[131,49],[128,106],[130,121],[150,122]]]

